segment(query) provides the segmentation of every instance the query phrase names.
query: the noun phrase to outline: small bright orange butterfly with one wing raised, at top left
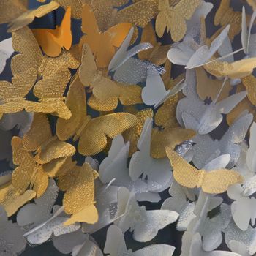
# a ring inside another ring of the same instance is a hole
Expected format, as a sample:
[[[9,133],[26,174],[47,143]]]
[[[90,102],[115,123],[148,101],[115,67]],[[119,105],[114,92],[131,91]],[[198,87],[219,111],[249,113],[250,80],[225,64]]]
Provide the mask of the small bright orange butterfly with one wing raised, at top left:
[[[67,8],[61,25],[56,26],[56,29],[33,29],[32,31],[46,55],[59,56],[62,48],[69,50],[72,45],[71,8]]]

